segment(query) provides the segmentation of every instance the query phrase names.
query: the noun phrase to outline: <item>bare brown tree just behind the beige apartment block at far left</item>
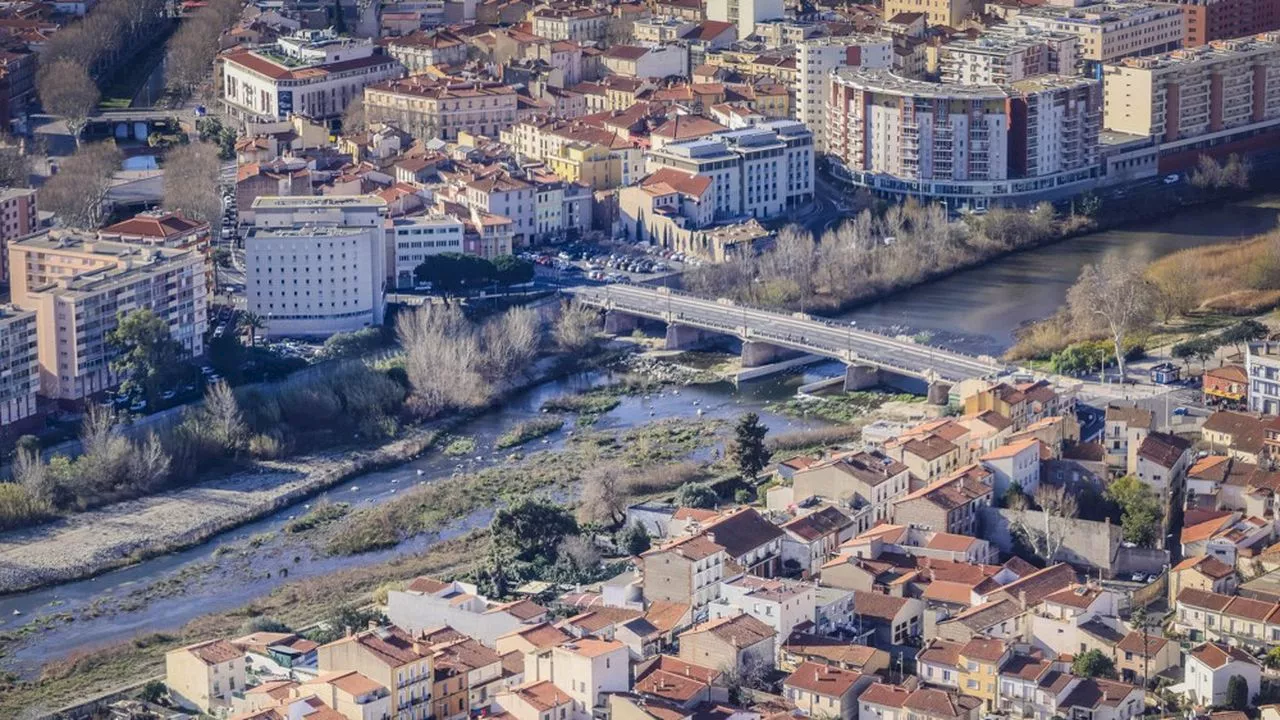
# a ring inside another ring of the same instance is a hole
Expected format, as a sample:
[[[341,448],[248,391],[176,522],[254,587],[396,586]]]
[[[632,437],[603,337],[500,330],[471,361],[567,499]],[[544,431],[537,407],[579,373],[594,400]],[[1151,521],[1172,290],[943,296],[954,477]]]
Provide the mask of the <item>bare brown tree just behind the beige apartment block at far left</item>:
[[[106,193],[118,169],[120,151],[114,142],[84,145],[40,188],[40,206],[67,227],[96,229],[106,214]]]

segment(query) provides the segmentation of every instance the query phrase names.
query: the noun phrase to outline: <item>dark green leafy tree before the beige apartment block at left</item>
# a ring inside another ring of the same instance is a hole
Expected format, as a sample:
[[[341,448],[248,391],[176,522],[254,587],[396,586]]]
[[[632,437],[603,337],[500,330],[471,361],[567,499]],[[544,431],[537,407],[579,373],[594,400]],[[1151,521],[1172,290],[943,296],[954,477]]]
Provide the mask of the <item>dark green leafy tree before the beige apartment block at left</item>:
[[[182,343],[169,334],[169,323],[148,309],[118,315],[106,342],[118,351],[111,370],[124,378],[120,388],[141,391],[148,401],[154,401],[180,369]]]

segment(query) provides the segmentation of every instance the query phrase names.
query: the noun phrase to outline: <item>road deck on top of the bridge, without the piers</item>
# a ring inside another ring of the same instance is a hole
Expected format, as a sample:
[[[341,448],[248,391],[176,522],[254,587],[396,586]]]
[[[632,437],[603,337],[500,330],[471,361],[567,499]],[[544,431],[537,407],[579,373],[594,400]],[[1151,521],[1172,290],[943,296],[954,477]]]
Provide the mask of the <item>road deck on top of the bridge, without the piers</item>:
[[[666,288],[627,284],[563,288],[594,306],[722,332],[854,364],[874,365],[927,380],[960,382],[998,375],[1009,368],[991,357],[973,357],[909,340],[855,329],[808,316],[756,310],[704,300]]]

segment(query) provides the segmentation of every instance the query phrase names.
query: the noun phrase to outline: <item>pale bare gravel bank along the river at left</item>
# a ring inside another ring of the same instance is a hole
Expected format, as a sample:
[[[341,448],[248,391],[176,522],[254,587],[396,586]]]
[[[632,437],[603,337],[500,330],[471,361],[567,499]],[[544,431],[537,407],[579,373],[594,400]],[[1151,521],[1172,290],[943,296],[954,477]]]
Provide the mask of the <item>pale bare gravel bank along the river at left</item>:
[[[0,534],[0,594],[92,577],[201,543],[355,475],[404,462],[435,437],[434,429],[416,428],[372,450],[259,462],[188,488]]]

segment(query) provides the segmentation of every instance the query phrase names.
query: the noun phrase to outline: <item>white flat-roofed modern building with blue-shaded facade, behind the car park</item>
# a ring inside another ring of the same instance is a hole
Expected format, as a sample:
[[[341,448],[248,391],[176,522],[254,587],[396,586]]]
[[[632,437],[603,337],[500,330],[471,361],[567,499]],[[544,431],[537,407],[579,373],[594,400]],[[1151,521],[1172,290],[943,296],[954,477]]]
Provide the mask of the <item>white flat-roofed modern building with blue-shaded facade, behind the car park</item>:
[[[684,142],[646,156],[649,172],[675,168],[712,181],[714,218],[771,218],[813,199],[813,132],[774,120]]]

